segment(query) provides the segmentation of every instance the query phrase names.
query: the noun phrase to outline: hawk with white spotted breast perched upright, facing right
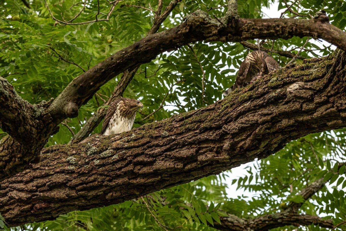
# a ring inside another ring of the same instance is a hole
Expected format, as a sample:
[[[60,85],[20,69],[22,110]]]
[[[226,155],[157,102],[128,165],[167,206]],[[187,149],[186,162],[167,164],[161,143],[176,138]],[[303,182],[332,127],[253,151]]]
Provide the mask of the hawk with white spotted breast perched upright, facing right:
[[[101,134],[111,135],[131,130],[135,121],[136,111],[143,104],[135,99],[119,98],[108,107],[104,117]]]

